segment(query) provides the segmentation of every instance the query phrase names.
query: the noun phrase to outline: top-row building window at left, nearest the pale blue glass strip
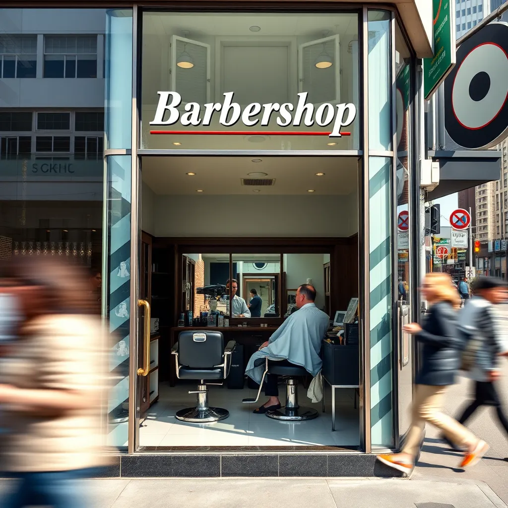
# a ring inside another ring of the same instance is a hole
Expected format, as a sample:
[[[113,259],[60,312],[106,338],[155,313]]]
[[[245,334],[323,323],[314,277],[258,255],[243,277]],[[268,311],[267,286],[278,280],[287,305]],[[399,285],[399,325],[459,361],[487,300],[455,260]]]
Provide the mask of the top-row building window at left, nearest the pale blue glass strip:
[[[44,77],[97,78],[97,36],[45,36]]]

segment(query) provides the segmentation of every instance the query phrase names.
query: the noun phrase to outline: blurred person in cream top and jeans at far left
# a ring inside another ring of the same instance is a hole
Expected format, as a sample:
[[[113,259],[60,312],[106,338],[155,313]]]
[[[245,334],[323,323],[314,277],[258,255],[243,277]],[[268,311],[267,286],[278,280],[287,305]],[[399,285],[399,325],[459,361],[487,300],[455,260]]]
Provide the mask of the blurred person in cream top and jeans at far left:
[[[86,276],[35,257],[11,272],[23,320],[7,358],[0,358],[0,405],[9,424],[0,464],[17,482],[0,506],[88,508],[77,480],[106,464],[107,366]]]

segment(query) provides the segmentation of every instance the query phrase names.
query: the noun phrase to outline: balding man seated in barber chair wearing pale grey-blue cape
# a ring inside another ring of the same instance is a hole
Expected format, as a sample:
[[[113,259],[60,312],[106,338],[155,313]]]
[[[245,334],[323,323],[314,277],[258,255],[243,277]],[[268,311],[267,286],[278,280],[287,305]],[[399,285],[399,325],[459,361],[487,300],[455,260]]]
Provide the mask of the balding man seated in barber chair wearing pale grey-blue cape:
[[[330,318],[314,305],[315,297],[316,291],[311,285],[301,285],[296,292],[298,312],[291,314],[270,339],[261,345],[259,351],[250,357],[245,372],[256,383],[261,383],[267,357],[304,367],[312,376],[321,370],[321,341],[325,338]],[[270,398],[254,411],[256,414],[280,408],[277,377],[267,374],[265,395]]]

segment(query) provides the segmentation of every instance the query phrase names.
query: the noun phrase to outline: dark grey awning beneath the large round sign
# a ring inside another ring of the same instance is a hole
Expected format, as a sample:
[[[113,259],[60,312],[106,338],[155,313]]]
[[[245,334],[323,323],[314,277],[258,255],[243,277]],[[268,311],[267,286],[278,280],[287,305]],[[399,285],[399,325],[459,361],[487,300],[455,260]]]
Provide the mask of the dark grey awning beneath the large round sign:
[[[429,150],[428,154],[439,161],[440,168],[439,185],[429,192],[429,200],[499,180],[501,175],[501,152],[497,150]]]

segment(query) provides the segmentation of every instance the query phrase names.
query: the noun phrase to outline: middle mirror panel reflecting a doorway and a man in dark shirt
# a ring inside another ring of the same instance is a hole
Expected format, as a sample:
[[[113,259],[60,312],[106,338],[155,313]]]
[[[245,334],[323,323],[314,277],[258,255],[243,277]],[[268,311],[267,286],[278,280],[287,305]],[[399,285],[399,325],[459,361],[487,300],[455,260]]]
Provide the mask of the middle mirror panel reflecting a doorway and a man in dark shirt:
[[[280,316],[279,254],[233,254],[233,278],[233,317]]]

